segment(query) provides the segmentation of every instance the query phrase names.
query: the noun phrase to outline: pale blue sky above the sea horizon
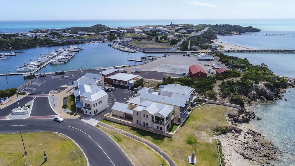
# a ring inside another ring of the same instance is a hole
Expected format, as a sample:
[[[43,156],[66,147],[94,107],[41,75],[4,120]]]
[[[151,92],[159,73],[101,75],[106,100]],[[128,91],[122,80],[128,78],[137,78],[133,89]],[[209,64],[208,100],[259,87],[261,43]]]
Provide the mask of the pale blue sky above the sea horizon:
[[[295,18],[295,0],[3,0],[0,20]]]

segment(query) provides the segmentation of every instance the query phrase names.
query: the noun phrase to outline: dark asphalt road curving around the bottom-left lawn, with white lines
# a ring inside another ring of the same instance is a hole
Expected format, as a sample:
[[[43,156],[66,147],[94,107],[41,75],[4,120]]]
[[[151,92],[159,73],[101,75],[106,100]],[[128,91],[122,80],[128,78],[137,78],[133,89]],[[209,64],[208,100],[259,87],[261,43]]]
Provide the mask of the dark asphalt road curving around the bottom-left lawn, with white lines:
[[[61,123],[52,119],[0,120],[0,133],[19,133],[17,124],[25,125],[20,126],[23,133],[58,132],[67,135],[81,147],[90,165],[132,165],[108,135],[94,126],[84,124],[80,119],[65,119]],[[26,137],[23,139],[26,146]]]

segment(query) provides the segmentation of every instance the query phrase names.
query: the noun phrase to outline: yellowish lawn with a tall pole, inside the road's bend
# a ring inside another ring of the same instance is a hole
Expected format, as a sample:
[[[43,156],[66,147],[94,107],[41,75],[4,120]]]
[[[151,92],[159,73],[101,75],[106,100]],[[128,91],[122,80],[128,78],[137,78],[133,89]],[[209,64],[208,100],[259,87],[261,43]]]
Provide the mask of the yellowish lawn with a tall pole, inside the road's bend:
[[[28,152],[27,165],[87,165],[80,148],[68,137],[58,133],[23,133]],[[20,134],[0,134],[0,165],[24,165],[24,149]],[[44,162],[43,151],[47,155]],[[43,164],[42,164],[43,163]]]

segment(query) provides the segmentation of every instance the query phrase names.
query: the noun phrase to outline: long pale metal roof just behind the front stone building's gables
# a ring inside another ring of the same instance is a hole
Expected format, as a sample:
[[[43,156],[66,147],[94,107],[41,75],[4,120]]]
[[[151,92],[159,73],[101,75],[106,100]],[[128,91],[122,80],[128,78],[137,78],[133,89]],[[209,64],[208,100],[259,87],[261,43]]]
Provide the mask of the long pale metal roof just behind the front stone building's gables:
[[[173,106],[184,107],[186,105],[186,100],[168,97],[168,96],[156,95],[151,93],[141,93],[139,98],[140,98],[140,101],[149,100],[149,101],[165,103],[165,104],[169,104]]]

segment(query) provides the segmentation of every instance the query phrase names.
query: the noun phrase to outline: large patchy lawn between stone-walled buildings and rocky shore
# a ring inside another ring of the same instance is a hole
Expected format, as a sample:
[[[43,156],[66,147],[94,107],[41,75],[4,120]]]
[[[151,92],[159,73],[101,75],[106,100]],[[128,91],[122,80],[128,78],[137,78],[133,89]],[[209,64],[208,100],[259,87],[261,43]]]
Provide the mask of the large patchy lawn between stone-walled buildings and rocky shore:
[[[101,122],[147,139],[170,155],[177,165],[188,164],[187,156],[195,151],[197,165],[219,165],[216,141],[212,139],[214,126],[229,125],[224,115],[234,109],[214,104],[205,104],[194,109],[189,118],[172,138],[110,121]]]

